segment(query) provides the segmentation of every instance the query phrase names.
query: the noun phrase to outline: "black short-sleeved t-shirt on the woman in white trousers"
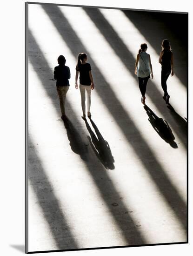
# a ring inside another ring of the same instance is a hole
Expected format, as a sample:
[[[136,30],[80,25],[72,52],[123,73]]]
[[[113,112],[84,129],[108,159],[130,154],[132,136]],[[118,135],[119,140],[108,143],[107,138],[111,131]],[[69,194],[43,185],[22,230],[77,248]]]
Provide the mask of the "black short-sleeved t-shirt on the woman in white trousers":
[[[91,79],[89,76],[89,71],[91,70],[91,65],[89,63],[76,65],[76,70],[80,73],[80,84],[91,85]]]

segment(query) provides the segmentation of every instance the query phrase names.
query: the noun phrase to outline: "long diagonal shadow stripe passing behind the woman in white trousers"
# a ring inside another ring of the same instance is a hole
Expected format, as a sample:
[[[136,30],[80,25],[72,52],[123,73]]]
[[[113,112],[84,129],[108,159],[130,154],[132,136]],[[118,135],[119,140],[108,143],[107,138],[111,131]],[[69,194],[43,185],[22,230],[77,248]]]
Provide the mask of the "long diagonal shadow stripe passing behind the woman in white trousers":
[[[173,210],[179,221],[184,226],[184,229],[186,230],[186,203],[183,201],[177,189],[173,186],[160,163],[157,161],[153,151],[148,147],[146,141],[144,141],[140,135],[139,130],[135,127],[132,119],[121,105],[120,101],[112,91],[110,85],[100,73],[99,68],[92,60],[92,54],[90,54],[89,51],[87,51],[87,49],[84,47],[80,38],[71,27],[67,18],[60,11],[59,7],[54,6],[50,8],[47,5],[43,5],[42,8],[53,22],[53,25],[57,28],[63,40],[67,43],[67,46],[69,47],[74,57],[76,58],[77,53],[81,51],[85,51],[88,54],[89,60],[93,66],[93,70],[97,74],[95,81],[97,84],[101,85],[101,87],[98,86],[96,88],[98,95],[106,104],[110,114],[114,117],[114,120],[120,126],[123,134],[126,136],[127,141],[133,147],[135,153],[140,157],[144,168],[151,175],[153,181],[157,185],[157,188],[160,190],[160,193],[162,193],[162,195],[165,197],[166,203]],[[90,8],[88,9],[90,10]],[[65,24],[65,28],[63,24]],[[106,97],[106,95],[109,97]],[[124,123],[121,121],[121,117],[124,119]],[[130,128],[129,130],[128,127]],[[129,133],[130,130],[133,132]],[[133,138],[133,134],[135,135],[135,138]],[[148,161],[150,158],[151,161]]]

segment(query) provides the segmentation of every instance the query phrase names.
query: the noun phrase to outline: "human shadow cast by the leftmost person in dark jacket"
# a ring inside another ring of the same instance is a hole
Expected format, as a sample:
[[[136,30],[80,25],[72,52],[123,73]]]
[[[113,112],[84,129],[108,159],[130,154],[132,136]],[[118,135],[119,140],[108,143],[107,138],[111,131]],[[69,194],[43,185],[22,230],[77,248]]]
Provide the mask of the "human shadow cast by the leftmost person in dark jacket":
[[[72,151],[75,154],[80,155],[81,159],[87,162],[88,149],[85,143],[83,142],[79,132],[74,127],[73,123],[69,120],[69,118],[64,119],[63,122],[67,131],[67,137],[70,141],[70,147]]]

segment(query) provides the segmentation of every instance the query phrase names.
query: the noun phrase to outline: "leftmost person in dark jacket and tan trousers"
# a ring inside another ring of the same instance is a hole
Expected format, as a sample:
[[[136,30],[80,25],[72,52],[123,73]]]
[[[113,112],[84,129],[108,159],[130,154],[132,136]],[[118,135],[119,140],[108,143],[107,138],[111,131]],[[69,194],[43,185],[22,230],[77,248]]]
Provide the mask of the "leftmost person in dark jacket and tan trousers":
[[[65,65],[66,59],[63,55],[58,57],[58,64],[58,66],[54,67],[53,74],[54,79],[56,80],[56,89],[60,100],[61,119],[65,119],[65,100],[70,86],[68,81],[70,79],[70,68]]]

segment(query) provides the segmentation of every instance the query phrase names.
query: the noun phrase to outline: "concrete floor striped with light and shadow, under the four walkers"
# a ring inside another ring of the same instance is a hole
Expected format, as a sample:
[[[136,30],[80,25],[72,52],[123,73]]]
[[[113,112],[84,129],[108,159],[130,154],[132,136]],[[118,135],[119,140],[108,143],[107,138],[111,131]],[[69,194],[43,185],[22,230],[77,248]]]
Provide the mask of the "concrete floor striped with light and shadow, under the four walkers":
[[[28,251],[186,242],[186,33],[163,15],[29,5]],[[175,65],[168,106],[164,38]],[[154,73],[146,107],[134,75],[144,41]],[[86,122],[74,87],[80,52],[96,86]],[[60,54],[71,69],[67,122],[53,80]]]

